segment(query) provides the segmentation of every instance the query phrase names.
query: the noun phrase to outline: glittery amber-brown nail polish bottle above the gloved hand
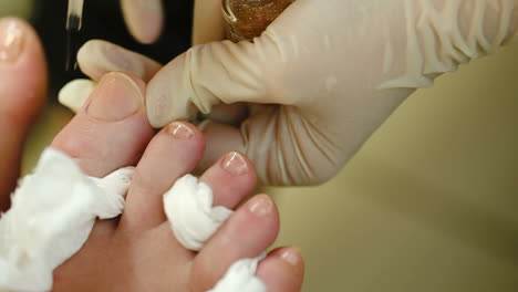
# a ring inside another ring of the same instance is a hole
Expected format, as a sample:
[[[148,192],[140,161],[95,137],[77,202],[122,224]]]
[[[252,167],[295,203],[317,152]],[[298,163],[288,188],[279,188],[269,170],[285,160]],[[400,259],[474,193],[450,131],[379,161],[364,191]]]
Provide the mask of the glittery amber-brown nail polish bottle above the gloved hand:
[[[296,0],[224,0],[227,39],[239,42],[259,36]]]

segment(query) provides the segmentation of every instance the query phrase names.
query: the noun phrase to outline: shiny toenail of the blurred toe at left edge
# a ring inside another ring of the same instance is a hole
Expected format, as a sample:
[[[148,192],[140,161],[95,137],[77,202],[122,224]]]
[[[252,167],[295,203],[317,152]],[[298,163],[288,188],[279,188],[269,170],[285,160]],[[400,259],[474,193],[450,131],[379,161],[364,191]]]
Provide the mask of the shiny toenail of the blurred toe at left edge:
[[[23,46],[23,29],[12,19],[0,21],[0,61],[14,62]]]

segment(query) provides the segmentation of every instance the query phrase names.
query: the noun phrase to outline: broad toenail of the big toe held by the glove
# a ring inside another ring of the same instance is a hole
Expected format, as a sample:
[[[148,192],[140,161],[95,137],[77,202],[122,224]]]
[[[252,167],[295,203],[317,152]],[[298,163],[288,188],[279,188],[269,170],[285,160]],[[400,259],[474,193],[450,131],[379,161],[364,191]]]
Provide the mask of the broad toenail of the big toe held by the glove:
[[[89,115],[106,122],[122,121],[143,106],[138,85],[123,73],[108,73],[92,93]]]

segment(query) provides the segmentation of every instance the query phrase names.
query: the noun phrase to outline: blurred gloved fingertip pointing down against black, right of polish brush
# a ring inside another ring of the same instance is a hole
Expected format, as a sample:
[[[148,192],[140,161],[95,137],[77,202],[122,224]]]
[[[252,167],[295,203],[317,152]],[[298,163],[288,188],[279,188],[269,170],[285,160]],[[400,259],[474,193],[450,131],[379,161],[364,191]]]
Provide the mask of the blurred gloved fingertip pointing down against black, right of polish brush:
[[[130,33],[141,43],[153,43],[164,27],[162,0],[121,0]]]

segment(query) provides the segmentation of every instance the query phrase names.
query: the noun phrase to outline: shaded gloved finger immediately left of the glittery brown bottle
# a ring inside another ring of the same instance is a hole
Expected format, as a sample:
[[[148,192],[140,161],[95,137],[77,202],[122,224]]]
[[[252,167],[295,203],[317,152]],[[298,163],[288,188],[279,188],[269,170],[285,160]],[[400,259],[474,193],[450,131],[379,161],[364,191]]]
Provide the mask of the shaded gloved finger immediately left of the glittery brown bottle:
[[[221,0],[196,0],[193,21],[193,45],[221,41],[225,38],[225,21]]]

